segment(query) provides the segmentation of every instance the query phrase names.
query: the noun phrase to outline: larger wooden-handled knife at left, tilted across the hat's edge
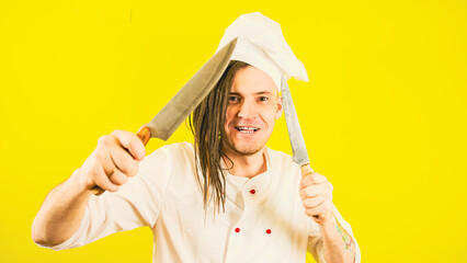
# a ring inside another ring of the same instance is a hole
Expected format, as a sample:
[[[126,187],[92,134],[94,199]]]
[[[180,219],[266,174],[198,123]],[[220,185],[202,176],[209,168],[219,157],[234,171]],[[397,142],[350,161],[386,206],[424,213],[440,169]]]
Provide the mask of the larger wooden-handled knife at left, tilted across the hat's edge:
[[[236,44],[237,38],[217,52],[162,107],[151,122],[138,129],[137,136],[145,146],[150,138],[169,139],[180,124],[206,98],[229,65]],[[101,195],[104,190],[95,185],[91,188],[91,192],[95,195]]]

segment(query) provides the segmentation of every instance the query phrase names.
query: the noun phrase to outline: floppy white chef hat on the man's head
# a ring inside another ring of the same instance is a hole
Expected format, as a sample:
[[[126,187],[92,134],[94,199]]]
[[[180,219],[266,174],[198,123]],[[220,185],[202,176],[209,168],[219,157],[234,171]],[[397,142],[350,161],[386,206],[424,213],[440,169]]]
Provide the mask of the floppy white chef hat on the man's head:
[[[281,25],[260,12],[242,14],[220,39],[217,50],[238,37],[230,60],[240,60],[266,72],[281,90],[282,76],[308,81],[307,71],[282,34]]]

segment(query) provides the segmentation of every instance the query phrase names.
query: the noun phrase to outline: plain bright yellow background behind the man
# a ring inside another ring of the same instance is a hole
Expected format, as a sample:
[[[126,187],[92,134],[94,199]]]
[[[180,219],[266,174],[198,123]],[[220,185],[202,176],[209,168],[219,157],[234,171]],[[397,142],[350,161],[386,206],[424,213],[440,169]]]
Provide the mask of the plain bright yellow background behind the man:
[[[151,262],[148,228],[36,247],[46,193],[100,136],[136,132],[240,14],[277,21],[310,81],[289,81],[314,169],[363,262],[464,262],[467,2],[2,1],[0,262]],[[192,137],[182,125],[168,142]],[[269,146],[292,152],[284,118]],[[314,262],[308,256],[307,262]]]

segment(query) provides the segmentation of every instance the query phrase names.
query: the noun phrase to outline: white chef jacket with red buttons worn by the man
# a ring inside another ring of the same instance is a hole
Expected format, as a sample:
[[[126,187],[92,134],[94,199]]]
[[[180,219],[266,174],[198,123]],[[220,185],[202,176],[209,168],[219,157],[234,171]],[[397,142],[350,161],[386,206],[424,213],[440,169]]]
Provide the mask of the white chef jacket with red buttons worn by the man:
[[[306,216],[299,196],[299,165],[283,152],[265,152],[266,172],[252,179],[226,173],[225,213],[214,215],[214,202],[207,213],[203,209],[193,145],[161,147],[139,162],[138,174],[119,191],[92,196],[79,229],[50,249],[77,248],[148,226],[153,262],[295,263],[305,262],[307,249],[317,262],[324,262],[319,225]],[[333,209],[353,237],[349,222]]]

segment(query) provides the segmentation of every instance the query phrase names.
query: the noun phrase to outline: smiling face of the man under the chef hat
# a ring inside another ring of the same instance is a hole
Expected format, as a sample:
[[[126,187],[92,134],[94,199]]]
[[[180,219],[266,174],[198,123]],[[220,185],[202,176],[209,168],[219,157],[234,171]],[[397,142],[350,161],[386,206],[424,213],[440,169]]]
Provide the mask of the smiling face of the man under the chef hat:
[[[239,69],[229,92],[224,125],[227,152],[250,156],[262,150],[282,112],[282,99],[273,79],[252,66]]]

